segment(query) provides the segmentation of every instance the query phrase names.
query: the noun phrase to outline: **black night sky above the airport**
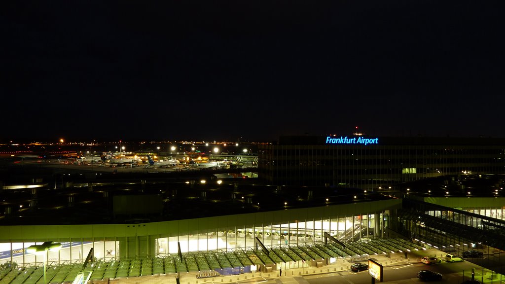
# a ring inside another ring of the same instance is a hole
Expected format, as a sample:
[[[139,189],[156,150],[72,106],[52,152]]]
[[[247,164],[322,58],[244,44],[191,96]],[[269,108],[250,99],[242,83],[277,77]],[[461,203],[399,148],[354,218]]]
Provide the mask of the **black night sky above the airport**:
[[[502,137],[502,3],[3,2],[0,140]]]

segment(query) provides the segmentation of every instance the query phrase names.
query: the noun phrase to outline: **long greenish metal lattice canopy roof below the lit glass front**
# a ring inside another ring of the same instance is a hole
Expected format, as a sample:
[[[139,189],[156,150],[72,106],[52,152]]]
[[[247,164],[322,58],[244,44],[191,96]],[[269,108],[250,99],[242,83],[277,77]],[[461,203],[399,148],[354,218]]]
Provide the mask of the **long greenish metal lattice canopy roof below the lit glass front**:
[[[401,252],[422,249],[421,245],[403,239],[361,239],[349,243],[310,243],[295,245],[277,245],[254,250],[239,248],[232,251],[213,250],[187,252],[180,255],[168,254],[163,258],[136,258],[116,261],[101,259],[89,263],[85,271],[91,272],[90,279],[104,279],[130,276],[147,276],[188,271],[205,271],[247,265],[272,264],[299,260],[315,260],[319,258],[349,258],[364,257],[375,254]],[[82,263],[64,262],[61,265],[49,263],[47,267],[47,282],[73,281],[82,272]],[[1,271],[0,279],[7,283],[41,284],[43,282],[42,265],[28,265],[22,268]],[[25,273],[26,272],[26,273]]]

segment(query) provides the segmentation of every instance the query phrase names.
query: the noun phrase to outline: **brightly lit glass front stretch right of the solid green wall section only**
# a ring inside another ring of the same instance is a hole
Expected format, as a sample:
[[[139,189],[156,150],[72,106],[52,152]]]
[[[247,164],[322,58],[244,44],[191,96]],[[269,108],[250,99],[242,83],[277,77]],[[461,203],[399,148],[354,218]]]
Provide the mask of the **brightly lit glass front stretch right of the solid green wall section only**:
[[[382,214],[379,215],[377,221],[381,219]],[[387,215],[383,219],[387,221]],[[177,253],[178,244],[180,244],[181,252],[217,249],[227,251],[254,247],[255,238],[258,238],[266,247],[322,242],[324,232],[341,242],[355,241],[379,235],[382,230],[376,230],[375,222],[375,215],[370,214],[267,226],[216,228],[214,231],[159,238],[157,239],[157,254],[163,256],[167,253]],[[387,226],[387,223],[382,223],[382,225]]]

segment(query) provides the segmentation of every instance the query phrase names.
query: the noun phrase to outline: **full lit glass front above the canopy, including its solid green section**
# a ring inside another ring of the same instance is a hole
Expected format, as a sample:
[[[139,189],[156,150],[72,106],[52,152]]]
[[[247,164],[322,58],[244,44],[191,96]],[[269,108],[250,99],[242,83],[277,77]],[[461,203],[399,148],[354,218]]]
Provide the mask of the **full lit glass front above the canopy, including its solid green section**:
[[[247,250],[255,247],[256,238],[267,248],[305,246],[323,243],[325,233],[345,243],[363,238],[382,238],[384,230],[381,228],[388,226],[388,219],[389,211],[386,210],[365,215],[328,216],[317,220],[295,220],[253,226],[212,229],[206,226],[201,229],[195,228],[194,231],[173,231],[168,234],[141,238],[103,236],[60,239],[53,241],[60,242],[63,247],[57,252],[49,251],[46,261],[49,264],[84,262],[91,248],[93,257],[103,261],[149,256],[164,258],[177,254],[179,248],[181,253]],[[145,242],[138,240],[145,240]],[[26,252],[29,246],[40,244],[42,242],[0,243],[0,262],[13,261],[18,265],[40,265],[44,261],[43,254]]]

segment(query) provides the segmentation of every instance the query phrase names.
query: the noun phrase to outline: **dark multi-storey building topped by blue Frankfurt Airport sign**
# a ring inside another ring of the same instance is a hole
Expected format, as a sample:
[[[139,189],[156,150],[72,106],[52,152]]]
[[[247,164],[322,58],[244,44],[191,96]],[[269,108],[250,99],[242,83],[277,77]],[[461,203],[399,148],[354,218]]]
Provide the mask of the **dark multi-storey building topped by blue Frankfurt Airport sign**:
[[[443,175],[505,173],[505,139],[283,136],[258,150],[260,177],[281,185],[373,190]]]

